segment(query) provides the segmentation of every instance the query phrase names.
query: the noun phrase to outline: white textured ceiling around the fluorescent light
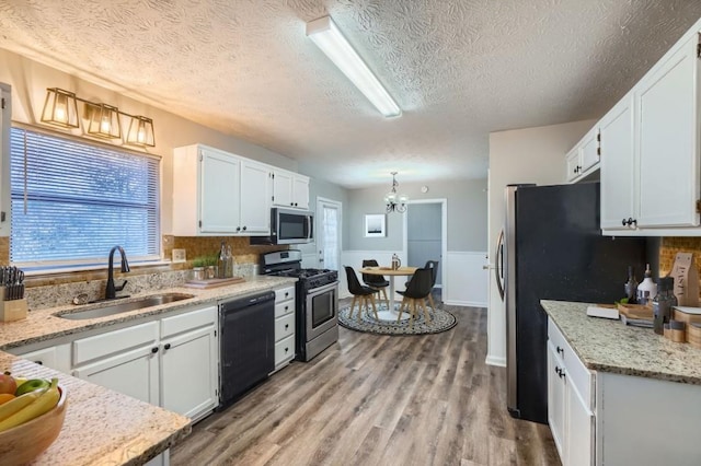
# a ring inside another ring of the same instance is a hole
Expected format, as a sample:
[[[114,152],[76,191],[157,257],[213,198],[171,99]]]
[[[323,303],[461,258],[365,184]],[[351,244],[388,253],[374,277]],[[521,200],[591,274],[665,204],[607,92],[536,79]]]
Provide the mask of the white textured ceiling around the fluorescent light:
[[[326,14],[402,117],[306,37]],[[2,0],[0,47],[363,187],[486,177],[490,131],[601,116],[700,16],[699,0]]]

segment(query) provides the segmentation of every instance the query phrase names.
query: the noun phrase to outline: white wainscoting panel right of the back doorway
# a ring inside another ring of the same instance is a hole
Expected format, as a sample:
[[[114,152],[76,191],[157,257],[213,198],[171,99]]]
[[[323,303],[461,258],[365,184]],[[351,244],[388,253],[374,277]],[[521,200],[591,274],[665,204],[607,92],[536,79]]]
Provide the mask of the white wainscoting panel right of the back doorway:
[[[449,251],[444,268],[443,300],[457,306],[487,306],[489,270],[484,252]]]

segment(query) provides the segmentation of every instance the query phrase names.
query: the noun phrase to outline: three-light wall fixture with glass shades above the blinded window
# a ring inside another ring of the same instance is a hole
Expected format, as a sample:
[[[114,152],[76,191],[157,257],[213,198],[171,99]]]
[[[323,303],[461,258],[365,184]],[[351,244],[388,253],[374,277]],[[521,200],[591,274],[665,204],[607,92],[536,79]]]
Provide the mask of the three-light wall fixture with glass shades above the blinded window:
[[[140,115],[129,115],[119,108],[90,102],[78,97],[74,93],[58,88],[46,90],[46,102],[42,112],[42,121],[62,128],[79,128],[78,102],[85,105],[88,128],[90,136],[106,139],[122,138],[122,121],[119,116],[129,118],[129,131],[124,143],[131,145],[156,145],[153,137],[153,120]]]

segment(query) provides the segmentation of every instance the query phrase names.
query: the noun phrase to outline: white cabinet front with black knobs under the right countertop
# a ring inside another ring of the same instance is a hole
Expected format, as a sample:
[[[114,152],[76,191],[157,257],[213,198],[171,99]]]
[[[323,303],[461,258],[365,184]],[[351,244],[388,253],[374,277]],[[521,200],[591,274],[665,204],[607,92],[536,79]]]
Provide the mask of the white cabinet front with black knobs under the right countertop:
[[[548,322],[548,422],[564,466],[594,461],[593,374]]]

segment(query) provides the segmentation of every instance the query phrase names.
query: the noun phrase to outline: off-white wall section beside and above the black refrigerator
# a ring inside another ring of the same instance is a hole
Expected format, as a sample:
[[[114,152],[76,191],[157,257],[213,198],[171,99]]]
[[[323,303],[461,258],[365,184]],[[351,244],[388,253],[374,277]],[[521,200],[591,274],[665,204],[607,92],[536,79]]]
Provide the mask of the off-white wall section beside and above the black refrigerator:
[[[515,183],[538,185],[565,182],[565,153],[596,120],[574,121],[490,135],[489,173],[489,364],[506,364],[506,318],[494,278],[494,248],[504,219],[504,188]]]

